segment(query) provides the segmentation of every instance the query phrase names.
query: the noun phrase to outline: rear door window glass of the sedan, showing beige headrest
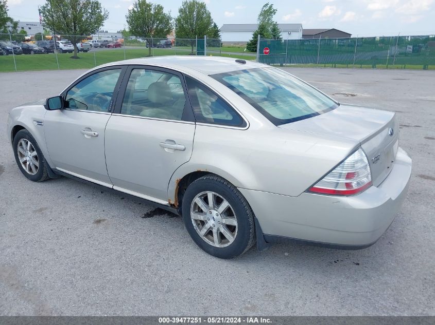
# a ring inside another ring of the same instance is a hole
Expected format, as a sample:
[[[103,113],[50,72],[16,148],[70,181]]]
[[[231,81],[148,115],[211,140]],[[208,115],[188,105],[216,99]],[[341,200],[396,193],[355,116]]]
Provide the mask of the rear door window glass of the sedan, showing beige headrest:
[[[133,69],[127,83],[121,114],[181,120],[186,96],[177,75]]]

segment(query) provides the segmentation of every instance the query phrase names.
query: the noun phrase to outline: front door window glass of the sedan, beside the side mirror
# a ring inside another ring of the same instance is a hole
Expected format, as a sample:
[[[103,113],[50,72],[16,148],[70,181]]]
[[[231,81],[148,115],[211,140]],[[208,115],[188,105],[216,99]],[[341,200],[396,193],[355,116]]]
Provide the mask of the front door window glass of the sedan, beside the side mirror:
[[[121,69],[105,70],[83,79],[66,93],[71,109],[108,112]]]

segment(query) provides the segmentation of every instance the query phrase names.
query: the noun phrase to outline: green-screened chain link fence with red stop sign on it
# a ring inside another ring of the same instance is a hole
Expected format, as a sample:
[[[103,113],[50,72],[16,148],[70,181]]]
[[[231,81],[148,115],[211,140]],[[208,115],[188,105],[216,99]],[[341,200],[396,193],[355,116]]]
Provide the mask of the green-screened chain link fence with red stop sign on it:
[[[257,61],[279,65],[435,69],[435,36],[259,39]]]

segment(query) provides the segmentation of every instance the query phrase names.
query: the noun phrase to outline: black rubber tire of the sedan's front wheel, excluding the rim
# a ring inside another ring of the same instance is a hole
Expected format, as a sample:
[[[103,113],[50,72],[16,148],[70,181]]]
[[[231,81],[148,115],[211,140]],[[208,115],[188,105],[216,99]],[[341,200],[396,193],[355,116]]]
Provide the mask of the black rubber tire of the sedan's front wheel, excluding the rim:
[[[37,173],[34,175],[30,175],[29,173],[27,173],[27,171],[23,168],[23,166],[20,163],[20,159],[18,157],[18,144],[22,139],[26,139],[26,140],[30,141],[33,148],[37,152],[39,166],[38,166]],[[29,180],[31,180],[33,182],[43,182],[43,181],[50,178],[48,176],[47,162],[45,161],[44,155],[42,155],[41,149],[39,148],[39,145],[36,142],[36,140],[33,138],[33,136],[30,134],[30,132],[27,131],[26,129],[18,131],[16,133],[15,137],[13,138],[13,153],[14,153],[15,161],[16,161],[16,164],[18,165],[18,168],[20,168],[21,173],[23,173],[23,175],[25,177],[27,177]]]

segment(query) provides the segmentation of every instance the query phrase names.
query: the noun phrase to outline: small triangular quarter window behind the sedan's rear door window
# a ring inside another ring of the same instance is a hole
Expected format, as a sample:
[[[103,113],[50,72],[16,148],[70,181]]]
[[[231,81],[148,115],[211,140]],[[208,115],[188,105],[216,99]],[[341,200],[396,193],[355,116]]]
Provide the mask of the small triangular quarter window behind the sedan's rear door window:
[[[197,122],[241,126],[243,119],[223,99],[203,84],[186,77]]]

